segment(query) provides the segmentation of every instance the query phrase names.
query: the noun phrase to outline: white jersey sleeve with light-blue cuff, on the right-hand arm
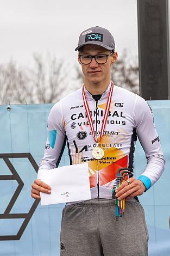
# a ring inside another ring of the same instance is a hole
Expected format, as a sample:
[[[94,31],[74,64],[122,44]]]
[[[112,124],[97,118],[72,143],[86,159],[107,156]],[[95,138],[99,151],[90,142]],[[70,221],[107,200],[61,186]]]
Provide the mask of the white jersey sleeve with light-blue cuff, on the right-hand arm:
[[[143,182],[148,190],[160,178],[165,169],[165,157],[163,156],[160,139],[154,126],[152,109],[139,96],[136,97],[134,115],[136,133],[147,159],[146,168],[138,179]]]

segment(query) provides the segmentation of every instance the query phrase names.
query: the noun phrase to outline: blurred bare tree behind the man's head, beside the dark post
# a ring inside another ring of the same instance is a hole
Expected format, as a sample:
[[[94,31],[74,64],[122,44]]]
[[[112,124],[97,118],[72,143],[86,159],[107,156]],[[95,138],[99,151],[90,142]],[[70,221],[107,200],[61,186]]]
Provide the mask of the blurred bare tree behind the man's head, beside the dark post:
[[[77,71],[77,80],[80,84],[83,83],[83,74],[78,66],[75,66]],[[139,93],[138,86],[138,63],[136,59],[130,59],[127,51],[124,50],[117,62],[111,66],[111,80],[119,86],[130,90],[136,94]]]

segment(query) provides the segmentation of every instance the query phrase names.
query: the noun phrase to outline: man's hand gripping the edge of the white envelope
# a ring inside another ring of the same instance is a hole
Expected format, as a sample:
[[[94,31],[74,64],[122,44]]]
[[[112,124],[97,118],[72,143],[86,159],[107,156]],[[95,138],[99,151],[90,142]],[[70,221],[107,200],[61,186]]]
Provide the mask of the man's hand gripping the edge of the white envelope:
[[[51,194],[51,187],[39,179],[34,180],[32,185],[31,196],[35,199],[40,199],[40,192]]]

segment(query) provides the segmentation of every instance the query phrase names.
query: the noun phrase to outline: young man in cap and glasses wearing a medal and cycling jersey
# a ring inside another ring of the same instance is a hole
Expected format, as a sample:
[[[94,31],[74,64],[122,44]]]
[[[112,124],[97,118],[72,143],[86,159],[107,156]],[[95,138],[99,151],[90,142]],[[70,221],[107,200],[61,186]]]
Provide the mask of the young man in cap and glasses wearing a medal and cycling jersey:
[[[39,174],[58,166],[67,139],[71,164],[88,162],[91,200],[72,202],[62,212],[61,254],[69,256],[148,255],[148,231],[137,196],[147,191],[165,167],[153,114],[140,96],[115,86],[110,69],[117,60],[115,41],[101,27],[80,34],[78,62],[84,86],[56,103],[48,117],[48,139]],[[117,189],[125,214],[116,221],[112,187],[119,168],[133,174],[136,139],[146,153],[141,176]],[[51,188],[36,179],[32,197]]]

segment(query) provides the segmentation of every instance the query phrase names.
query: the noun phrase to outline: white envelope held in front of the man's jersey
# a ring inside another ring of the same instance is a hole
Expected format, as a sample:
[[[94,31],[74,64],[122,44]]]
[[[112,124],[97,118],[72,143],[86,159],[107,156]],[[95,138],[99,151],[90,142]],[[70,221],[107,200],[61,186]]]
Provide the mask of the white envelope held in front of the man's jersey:
[[[91,199],[87,163],[43,170],[39,178],[51,186],[51,194],[40,192],[41,205]]]

